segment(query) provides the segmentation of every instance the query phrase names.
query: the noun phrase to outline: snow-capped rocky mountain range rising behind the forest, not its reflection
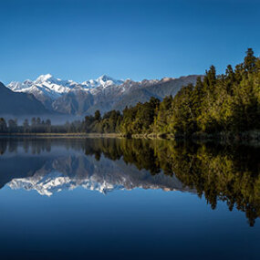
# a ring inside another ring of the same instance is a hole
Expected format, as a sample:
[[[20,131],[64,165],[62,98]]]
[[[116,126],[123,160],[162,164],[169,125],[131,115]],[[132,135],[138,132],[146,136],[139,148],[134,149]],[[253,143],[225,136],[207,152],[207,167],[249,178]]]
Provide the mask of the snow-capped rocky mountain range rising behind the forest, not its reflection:
[[[42,75],[35,81],[27,79],[23,83],[11,82],[7,87],[15,92],[30,93],[46,109],[69,115],[93,114],[99,109],[102,113],[111,109],[122,110],[151,97],[163,99],[174,96],[182,86],[196,82],[197,75],[161,80],[131,79],[119,80],[103,75],[82,83],[62,80],[52,75]]]

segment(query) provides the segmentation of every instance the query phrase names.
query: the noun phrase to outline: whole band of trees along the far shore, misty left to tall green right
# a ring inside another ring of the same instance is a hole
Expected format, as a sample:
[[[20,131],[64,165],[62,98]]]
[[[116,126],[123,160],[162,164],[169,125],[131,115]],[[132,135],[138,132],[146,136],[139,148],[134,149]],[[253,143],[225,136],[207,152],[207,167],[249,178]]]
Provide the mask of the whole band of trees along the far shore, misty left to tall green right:
[[[260,59],[248,48],[244,61],[217,75],[212,66],[195,86],[183,86],[175,97],[151,98],[122,112],[99,110],[85,120],[52,126],[50,120],[0,119],[0,132],[96,132],[172,135],[191,137],[198,133],[241,133],[260,130]]]

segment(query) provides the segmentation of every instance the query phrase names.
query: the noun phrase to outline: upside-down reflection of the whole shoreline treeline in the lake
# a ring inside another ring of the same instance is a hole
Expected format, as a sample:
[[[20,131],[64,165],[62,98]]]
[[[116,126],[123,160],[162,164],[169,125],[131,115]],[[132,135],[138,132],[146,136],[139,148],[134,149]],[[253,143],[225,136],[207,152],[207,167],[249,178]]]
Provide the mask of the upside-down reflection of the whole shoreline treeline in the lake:
[[[50,152],[53,146],[93,155],[123,160],[151,175],[177,177],[184,186],[204,196],[212,209],[218,201],[230,211],[236,207],[245,213],[251,226],[260,216],[260,149],[248,146],[177,143],[172,140],[127,139],[2,139],[0,155],[23,147],[25,153]]]

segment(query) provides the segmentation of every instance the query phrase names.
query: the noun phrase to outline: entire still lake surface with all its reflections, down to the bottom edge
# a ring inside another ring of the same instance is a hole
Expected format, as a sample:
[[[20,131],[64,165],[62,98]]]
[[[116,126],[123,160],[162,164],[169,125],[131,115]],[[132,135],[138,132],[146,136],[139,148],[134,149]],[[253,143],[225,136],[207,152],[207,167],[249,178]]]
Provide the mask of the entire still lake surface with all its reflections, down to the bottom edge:
[[[259,154],[0,140],[1,259],[259,259]]]

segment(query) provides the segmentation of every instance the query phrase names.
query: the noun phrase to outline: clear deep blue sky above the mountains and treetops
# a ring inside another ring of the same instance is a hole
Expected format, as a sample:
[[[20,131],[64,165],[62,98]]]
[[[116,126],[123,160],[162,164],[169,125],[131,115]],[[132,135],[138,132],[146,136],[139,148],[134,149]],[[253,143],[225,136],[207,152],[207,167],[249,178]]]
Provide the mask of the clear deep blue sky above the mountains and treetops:
[[[0,81],[223,72],[260,54],[258,0],[0,0]]]

